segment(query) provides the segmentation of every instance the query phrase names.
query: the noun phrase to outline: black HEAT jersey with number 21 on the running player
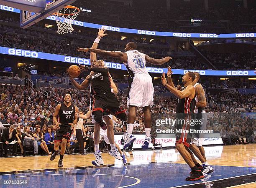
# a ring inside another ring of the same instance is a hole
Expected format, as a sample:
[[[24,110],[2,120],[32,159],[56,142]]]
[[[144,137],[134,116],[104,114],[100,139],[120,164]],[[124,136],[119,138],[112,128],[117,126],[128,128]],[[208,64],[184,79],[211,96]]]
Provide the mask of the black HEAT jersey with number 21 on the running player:
[[[73,103],[69,106],[69,108],[64,103],[61,103],[61,107],[59,109],[58,122],[61,123],[61,125],[73,123],[75,112],[76,109]]]

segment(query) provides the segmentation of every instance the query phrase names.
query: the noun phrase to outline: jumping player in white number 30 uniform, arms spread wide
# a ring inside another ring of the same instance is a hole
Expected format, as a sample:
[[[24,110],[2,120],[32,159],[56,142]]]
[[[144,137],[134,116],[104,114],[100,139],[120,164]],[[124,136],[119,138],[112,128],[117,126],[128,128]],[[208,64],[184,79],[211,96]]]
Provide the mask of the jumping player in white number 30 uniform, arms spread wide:
[[[162,65],[171,60],[171,57],[165,57],[163,59],[150,58],[148,55],[140,53],[137,50],[136,43],[130,42],[125,46],[125,53],[120,51],[105,51],[92,48],[78,48],[78,51],[93,52],[102,56],[110,56],[119,58],[126,66],[129,75],[132,80],[128,87],[127,105],[128,105],[128,125],[127,133],[123,135],[125,143],[123,148],[128,148],[131,143],[136,140],[133,136],[133,123],[136,119],[136,108],[142,107],[144,113],[144,124],[146,131],[146,138],[143,145],[143,149],[147,149],[150,142],[150,130],[151,130],[151,113],[150,105],[153,105],[154,87],[152,78],[148,74],[146,69],[146,62],[154,65]]]

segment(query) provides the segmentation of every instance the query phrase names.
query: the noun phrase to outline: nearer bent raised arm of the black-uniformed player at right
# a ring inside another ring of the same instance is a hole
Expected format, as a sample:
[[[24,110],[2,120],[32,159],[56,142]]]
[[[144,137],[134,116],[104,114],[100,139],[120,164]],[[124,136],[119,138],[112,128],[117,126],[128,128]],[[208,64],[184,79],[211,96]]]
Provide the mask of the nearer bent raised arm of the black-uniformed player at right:
[[[164,87],[166,87],[170,92],[172,92],[175,96],[177,96],[178,98],[186,98],[189,97],[189,95],[192,94],[194,87],[193,85],[188,85],[186,89],[180,91],[177,90],[176,88],[168,85],[166,78],[165,78],[165,74],[163,73],[163,75],[161,76],[162,79],[162,84],[164,85]]]

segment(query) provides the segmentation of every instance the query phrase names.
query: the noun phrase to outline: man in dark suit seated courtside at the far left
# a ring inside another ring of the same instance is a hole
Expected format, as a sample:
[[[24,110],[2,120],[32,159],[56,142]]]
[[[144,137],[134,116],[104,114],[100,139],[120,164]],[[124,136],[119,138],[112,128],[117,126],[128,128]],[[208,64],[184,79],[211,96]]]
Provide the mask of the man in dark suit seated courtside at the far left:
[[[6,128],[3,130],[3,135],[2,135],[2,141],[3,143],[3,148],[5,150],[5,157],[7,156],[7,149],[10,146],[13,146],[13,156],[17,156],[16,151],[17,151],[17,143],[9,145],[10,142],[14,141],[16,139],[16,130],[14,129],[13,125],[10,125],[10,128]]]

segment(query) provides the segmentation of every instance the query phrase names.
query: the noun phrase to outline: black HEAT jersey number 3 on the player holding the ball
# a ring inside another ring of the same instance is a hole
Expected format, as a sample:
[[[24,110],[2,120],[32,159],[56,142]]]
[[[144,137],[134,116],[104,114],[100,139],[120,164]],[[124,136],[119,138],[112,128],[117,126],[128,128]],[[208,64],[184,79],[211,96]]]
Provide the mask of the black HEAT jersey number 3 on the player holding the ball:
[[[111,93],[109,73],[93,73],[90,75],[91,95]],[[113,93],[112,93],[113,94]],[[115,95],[115,94],[113,94]]]

